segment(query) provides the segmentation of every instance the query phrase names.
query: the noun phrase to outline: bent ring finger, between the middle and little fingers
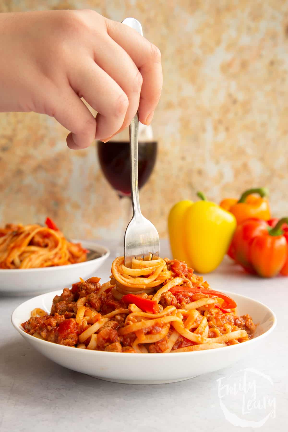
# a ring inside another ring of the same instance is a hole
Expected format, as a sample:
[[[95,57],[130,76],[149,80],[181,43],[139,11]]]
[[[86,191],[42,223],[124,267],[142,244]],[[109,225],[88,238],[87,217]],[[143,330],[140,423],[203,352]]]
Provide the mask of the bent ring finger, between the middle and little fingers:
[[[80,68],[71,67],[70,86],[98,111],[93,139],[104,140],[122,126],[129,105],[127,95],[92,58],[78,59],[78,64]]]

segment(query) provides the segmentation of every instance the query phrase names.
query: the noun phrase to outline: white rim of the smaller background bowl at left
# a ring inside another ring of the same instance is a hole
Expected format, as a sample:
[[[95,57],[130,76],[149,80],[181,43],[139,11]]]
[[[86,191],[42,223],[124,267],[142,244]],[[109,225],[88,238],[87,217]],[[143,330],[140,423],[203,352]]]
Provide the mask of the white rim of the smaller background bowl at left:
[[[7,273],[7,274],[15,274],[15,273],[17,273],[17,274],[19,274],[19,273],[22,273],[22,272],[24,272],[24,273],[28,273],[28,272],[32,273],[32,272],[38,272],[38,271],[40,271],[42,273],[42,272],[55,271],[56,269],[67,269],[67,268],[70,268],[71,266],[73,266],[73,268],[76,268],[76,266],[77,267],[84,267],[88,263],[95,263],[97,260],[106,259],[111,254],[110,249],[108,249],[104,245],[100,245],[98,243],[94,243],[94,241],[91,241],[91,240],[74,240],[73,239],[73,242],[76,242],[76,241],[79,242],[79,243],[82,243],[84,246],[85,246],[85,244],[88,245],[88,243],[91,244],[91,245],[93,244],[94,247],[95,247],[95,249],[97,249],[97,248],[102,249],[104,251],[104,254],[101,255],[101,257],[94,258],[94,260],[82,261],[82,263],[66,264],[66,265],[63,265],[63,266],[36,267],[36,268],[31,268],[31,269],[0,269],[0,274],[5,274],[5,273]],[[89,246],[87,246],[87,248],[88,247]]]

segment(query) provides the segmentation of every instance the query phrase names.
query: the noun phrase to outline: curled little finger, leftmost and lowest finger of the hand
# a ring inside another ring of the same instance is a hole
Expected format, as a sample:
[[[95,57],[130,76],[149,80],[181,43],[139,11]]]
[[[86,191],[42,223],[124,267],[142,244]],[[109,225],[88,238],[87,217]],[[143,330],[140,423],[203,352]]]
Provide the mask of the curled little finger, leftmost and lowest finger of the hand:
[[[67,137],[67,146],[70,149],[85,149],[95,139],[96,120],[85,106],[78,95],[67,88],[66,94],[59,98],[55,106],[54,97],[54,118],[66,129],[71,130]]]

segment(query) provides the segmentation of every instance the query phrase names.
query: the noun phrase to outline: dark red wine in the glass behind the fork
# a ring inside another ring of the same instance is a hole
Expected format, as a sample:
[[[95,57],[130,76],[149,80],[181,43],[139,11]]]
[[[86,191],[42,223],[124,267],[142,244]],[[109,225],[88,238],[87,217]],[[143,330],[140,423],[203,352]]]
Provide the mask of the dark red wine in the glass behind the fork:
[[[157,142],[138,144],[139,188],[148,180],[156,161]],[[130,145],[128,141],[98,141],[98,157],[103,174],[120,196],[130,196]]]

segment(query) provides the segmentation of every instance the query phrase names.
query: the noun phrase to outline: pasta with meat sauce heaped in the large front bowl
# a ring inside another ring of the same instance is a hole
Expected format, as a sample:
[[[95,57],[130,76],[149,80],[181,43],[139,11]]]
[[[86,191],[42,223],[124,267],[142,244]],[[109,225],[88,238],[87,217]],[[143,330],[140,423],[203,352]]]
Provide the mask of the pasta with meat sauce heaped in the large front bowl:
[[[99,278],[65,288],[50,315],[36,310],[26,333],[80,349],[125,353],[176,353],[222,348],[253,337],[249,315],[210,289],[183,261],[114,260],[110,282]]]

